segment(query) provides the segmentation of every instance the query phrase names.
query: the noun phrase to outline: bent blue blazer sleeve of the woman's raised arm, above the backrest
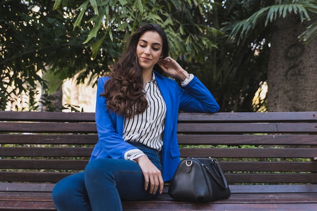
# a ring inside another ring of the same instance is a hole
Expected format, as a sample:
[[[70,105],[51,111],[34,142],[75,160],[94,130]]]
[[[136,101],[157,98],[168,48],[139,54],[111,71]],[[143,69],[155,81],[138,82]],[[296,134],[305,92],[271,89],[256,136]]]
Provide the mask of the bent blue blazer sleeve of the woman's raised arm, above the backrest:
[[[180,88],[180,110],[184,112],[215,113],[220,107],[212,93],[197,78],[194,78],[185,86],[186,90]]]

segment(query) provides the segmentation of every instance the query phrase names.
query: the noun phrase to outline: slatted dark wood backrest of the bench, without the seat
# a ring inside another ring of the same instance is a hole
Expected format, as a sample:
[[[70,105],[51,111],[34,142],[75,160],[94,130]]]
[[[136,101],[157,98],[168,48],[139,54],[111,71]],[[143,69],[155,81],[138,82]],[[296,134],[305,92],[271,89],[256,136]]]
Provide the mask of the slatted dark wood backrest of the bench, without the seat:
[[[180,113],[181,156],[216,157],[230,184],[316,183],[316,115]],[[0,111],[0,181],[55,183],[97,140],[94,113]]]

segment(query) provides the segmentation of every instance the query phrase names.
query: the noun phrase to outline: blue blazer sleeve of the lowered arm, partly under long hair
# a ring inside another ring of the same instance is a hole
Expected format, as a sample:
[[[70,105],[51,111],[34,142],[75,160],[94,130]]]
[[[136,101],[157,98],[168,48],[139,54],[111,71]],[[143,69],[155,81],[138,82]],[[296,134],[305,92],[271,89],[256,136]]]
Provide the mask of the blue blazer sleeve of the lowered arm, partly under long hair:
[[[95,120],[99,140],[92,155],[97,158],[125,159],[124,155],[127,151],[137,148],[123,140],[122,132],[118,132],[123,130],[123,123],[117,124],[118,119],[122,118],[123,120],[123,116],[120,117],[116,113],[110,112],[106,108],[106,98],[100,96],[108,79],[107,77],[102,77],[98,80]]]

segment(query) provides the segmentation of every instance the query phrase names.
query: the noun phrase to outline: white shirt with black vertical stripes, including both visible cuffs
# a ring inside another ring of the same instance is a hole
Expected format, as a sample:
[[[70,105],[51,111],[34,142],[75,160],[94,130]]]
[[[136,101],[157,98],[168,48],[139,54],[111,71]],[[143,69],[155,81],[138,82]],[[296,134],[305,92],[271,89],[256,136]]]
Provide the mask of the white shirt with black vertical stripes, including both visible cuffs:
[[[193,78],[190,76],[182,82],[186,86]],[[163,146],[163,131],[165,127],[166,104],[155,81],[148,81],[144,88],[147,99],[147,108],[144,113],[135,115],[133,118],[125,118],[124,134],[125,141],[139,142],[150,148],[161,150]],[[134,160],[144,155],[140,149],[132,149],[125,153],[126,160]]]

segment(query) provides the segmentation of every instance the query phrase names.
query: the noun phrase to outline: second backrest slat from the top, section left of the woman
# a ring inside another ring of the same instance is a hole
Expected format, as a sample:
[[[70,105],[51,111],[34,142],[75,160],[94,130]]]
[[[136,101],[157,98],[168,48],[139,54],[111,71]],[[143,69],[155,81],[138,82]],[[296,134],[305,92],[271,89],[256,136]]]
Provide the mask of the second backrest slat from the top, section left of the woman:
[[[0,122],[0,132],[16,133],[96,133],[95,123]]]

